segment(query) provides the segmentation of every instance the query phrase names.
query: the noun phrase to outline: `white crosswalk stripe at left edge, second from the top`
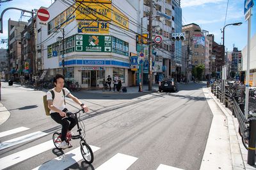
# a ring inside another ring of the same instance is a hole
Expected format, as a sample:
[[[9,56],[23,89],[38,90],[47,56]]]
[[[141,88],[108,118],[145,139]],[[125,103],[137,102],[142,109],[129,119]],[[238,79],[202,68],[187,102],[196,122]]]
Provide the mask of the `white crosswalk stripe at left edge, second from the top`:
[[[26,141],[31,141],[33,139],[40,138],[45,135],[47,135],[47,133],[38,131],[38,132],[33,132],[31,134],[26,134],[24,136],[20,136],[18,138],[10,139],[8,141],[4,141],[4,142],[0,143],[0,150],[9,148],[14,145],[18,145],[20,143],[24,143]]]

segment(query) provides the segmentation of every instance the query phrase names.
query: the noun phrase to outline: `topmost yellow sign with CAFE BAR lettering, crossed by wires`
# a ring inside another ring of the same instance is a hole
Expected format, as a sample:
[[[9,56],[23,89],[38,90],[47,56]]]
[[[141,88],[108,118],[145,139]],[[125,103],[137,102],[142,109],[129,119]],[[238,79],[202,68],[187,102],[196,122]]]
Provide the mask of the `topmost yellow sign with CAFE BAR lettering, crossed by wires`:
[[[111,20],[111,4],[83,3],[76,10],[76,20]]]

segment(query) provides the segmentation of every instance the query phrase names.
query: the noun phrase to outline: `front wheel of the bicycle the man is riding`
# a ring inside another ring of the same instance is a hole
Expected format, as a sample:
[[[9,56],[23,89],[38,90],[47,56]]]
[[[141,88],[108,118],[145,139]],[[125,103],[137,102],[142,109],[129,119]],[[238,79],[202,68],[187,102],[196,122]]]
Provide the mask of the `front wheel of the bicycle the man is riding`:
[[[84,161],[87,164],[92,164],[94,159],[92,148],[84,140],[80,142],[80,145],[81,145],[81,153],[84,158]]]

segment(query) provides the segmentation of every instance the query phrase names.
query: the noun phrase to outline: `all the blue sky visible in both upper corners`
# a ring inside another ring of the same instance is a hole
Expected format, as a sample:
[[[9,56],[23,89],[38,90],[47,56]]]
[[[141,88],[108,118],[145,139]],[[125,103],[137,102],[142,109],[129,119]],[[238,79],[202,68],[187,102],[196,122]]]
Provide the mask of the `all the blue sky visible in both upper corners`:
[[[54,1],[54,0],[52,0]],[[122,0],[123,1],[123,0]],[[164,1],[164,0],[162,0]],[[182,3],[182,24],[195,23],[200,25],[201,29],[209,31],[209,34],[214,34],[215,41],[221,43],[221,31],[225,24],[225,14],[228,0],[181,0]],[[256,3],[256,2],[255,2]],[[24,10],[38,9],[40,6],[49,6],[51,0],[14,0],[8,3],[1,3],[0,11],[8,7],[17,7]],[[247,27],[248,22],[244,21],[244,1],[230,0],[228,4],[226,24],[234,22],[243,22],[240,26],[228,26],[225,29],[225,46],[228,51],[232,50],[233,44],[243,50],[247,44]],[[256,13],[256,7],[253,6],[253,13]],[[27,13],[27,15],[29,15]],[[0,34],[0,39],[7,38],[7,21],[20,19],[20,11],[9,10],[4,13],[3,17],[3,34]],[[27,21],[28,17],[22,17],[23,21]],[[252,16],[252,36],[256,33],[256,16]],[[0,44],[0,48],[6,48],[6,44]]]

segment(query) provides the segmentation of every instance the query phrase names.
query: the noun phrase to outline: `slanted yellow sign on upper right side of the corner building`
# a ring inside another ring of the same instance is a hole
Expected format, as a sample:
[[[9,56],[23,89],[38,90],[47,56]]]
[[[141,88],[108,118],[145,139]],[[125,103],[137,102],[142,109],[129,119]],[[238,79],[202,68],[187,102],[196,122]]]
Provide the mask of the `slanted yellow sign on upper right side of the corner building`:
[[[113,6],[112,11],[113,23],[128,30],[129,29],[129,18],[126,17],[122,12]]]

